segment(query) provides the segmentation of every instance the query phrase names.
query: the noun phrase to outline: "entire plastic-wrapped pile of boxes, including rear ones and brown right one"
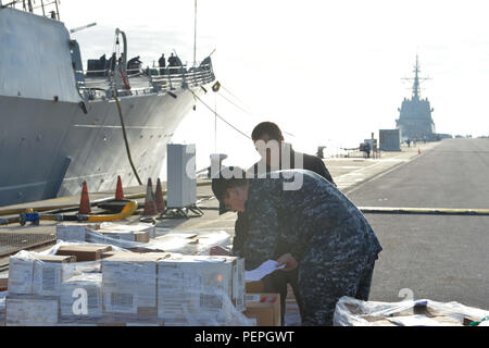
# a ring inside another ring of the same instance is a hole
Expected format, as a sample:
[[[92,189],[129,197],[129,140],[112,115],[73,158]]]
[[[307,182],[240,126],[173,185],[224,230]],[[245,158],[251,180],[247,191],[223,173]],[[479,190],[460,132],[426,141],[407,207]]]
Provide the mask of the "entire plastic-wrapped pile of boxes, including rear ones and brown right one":
[[[280,324],[278,294],[246,300],[243,259],[202,256],[230,243],[225,232],[152,239],[152,225],[111,223],[62,223],[57,232],[71,244],[49,256],[21,251],[10,258],[0,325],[2,308],[7,325]]]

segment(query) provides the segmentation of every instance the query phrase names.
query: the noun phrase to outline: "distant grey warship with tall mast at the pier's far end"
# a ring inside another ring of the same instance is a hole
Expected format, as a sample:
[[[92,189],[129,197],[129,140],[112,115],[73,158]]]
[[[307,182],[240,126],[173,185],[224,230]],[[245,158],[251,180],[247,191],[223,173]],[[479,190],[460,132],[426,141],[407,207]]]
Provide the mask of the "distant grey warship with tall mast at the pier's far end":
[[[411,99],[402,101],[399,119],[396,127],[400,129],[402,140],[437,140],[435,122],[431,119],[434,109],[429,105],[428,98],[422,99],[419,91],[419,63],[416,55],[414,66],[414,84]]]

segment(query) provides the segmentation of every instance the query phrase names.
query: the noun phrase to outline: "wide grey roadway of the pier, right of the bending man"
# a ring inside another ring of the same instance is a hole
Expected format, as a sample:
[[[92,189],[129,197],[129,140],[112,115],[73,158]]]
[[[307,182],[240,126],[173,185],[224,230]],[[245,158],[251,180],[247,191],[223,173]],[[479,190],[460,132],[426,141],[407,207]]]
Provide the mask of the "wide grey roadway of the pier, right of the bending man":
[[[447,139],[349,194],[356,206],[489,209],[489,139]],[[489,216],[365,214],[384,247],[371,299],[489,309]]]

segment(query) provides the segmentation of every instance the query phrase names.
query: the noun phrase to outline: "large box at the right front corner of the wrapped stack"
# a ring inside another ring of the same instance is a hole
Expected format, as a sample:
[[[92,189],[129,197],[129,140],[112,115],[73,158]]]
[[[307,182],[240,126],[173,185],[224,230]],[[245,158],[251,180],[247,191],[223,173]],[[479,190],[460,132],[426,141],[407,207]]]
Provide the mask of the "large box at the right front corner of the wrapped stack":
[[[158,262],[158,316],[185,322],[244,310],[244,263],[234,257],[179,256]],[[227,300],[226,300],[227,299]],[[229,306],[235,306],[228,308]],[[224,318],[223,316],[223,318]]]

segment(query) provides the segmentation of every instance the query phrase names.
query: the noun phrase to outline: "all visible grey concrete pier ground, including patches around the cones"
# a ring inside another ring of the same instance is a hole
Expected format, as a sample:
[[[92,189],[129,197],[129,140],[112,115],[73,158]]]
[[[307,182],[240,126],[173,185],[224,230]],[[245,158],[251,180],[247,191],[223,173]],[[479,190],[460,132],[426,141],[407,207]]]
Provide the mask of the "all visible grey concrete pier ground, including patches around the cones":
[[[401,151],[383,151],[379,158],[367,159],[359,152],[324,161],[338,188],[358,207],[489,209],[488,139],[447,139],[402,146]],[[199,185],[205,182],[199,181]],[[153,189],[154,186],[155,178]],[[114,191],[90,192],[90,201],[114,197]],[[124,189],[126,196],[143,197],[145,192],[146,186]],[[145,199],[137,200],[142,207]],[[22,207],[60,202],[76,206],[79,196]],[[221,229],[234,236],[236,213],[218,215],[217,201],[209,185],[198,186],[198,206],[204,212],[200,217],[158,220],[156,235],[174,228]],[[1,207],[0,213],[11,208],[15,207]],[[400,301],[412,295],[489,309],[489,216],[365,216],[384,247],[374,272],[371,300]],[[122,223],[137,223],[139,217],[133,215]],[[52,239],[55,223],[0,226],[0,238],[12,234],[40,234]],[[42,248],[46,245],[38,249]],[[8,260],[8,256],[0,256],[0,271]],[[297,306],[293,296],[289,297],[286,322],[298,324]]]

